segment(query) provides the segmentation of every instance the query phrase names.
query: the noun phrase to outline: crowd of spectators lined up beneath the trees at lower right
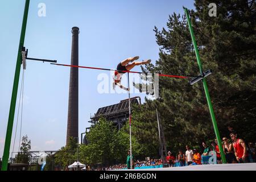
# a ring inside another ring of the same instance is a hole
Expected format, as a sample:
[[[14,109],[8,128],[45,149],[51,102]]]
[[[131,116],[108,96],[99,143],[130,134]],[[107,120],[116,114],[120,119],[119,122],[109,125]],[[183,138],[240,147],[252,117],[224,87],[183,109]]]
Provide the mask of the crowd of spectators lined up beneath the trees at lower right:
[[[256,143],[249,142],[246,144],[243,139],[237,137],[237,133],[232,129],[232,127],[229,127],[228,129],[230,131],[229,138],[223,137],[221,141],[221,148],[224,151],[226,163],[255,163]],[[180,167],[209,164],[209,159],[211,156],[214,156],[216,158],[216,163],[222,163],[220,147],[218,146],[217,139],[210,142],[209,146],[207,145],[207,142],[202,142],[201,148],[203,148],[203,150],[200,150],[200,148],[191,149],[187,145],[185,146],[185,152],[183,152],[183,150],[179,150],[177,152],[177,155],[174,155],[171,151],[168,151],[168,155],[166,156],[164,161],[162,159],[148,159],[143,161],[134,160],[133,167]],[[127,164],[118,164],[106,168],[98,168],[96,169],[96,171],[115,169],[127,169]]]

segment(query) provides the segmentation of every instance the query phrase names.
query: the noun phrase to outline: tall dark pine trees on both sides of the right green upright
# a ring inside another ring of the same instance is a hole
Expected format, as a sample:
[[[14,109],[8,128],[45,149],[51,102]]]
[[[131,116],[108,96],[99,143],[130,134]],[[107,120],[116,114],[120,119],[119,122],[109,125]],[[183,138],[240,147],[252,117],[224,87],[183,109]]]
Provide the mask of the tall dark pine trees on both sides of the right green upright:
[[[203,69],[213,70],[207,82],[218,128],[221,137],[229,137],[226,126],[232,125],[247,142],[255,142],[255,1],[214,1],[217,17],[208,15],[209,3],[212,1],[195,1],[195,11],[190,14]],[[167,29],[155,27],[154,31],[160,46],[159,60],[144,72],[200,74],[184,15],[172,14]],[[191,86],[188,80],[160,77],[159,95],[153,102],[161,115],[170,150],[184,149],[185,144],[201,146],[202,140],[215,138],[201,82]],[[151,105],[146,101],[134,119],[151,121],[148,109],[144,109]],[[152,140],[146,131],[155,128],[150,123],[143,126],[143,138],[148,138],[148,143]]]

